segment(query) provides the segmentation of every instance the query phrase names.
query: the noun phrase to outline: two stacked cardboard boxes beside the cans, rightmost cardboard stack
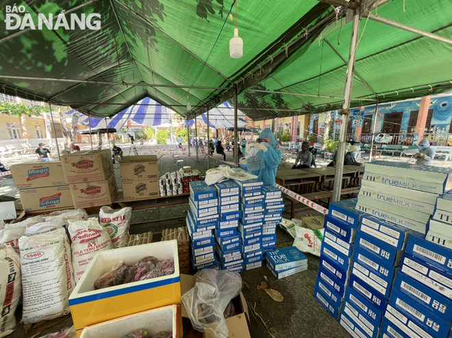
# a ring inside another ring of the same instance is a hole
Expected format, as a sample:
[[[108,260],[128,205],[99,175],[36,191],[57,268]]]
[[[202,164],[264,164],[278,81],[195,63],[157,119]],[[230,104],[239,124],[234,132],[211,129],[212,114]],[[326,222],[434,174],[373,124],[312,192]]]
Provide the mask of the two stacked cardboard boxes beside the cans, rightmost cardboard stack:
[[[121,164],[124,200],[140,200],[160,196],[156,155],[125,156]]]

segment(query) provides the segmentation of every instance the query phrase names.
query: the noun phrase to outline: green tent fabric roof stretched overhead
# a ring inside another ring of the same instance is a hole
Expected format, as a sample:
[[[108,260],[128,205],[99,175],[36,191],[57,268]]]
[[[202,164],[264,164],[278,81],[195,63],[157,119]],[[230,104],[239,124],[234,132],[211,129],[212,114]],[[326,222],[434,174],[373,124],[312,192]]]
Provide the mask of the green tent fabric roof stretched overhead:
[[[240,59],[229,57],[233,0],[36,0],[23,5],[34,23],[38,13],[99,13],[101,29],[6,30],[0,25],[0,90],[6,94],[71,105],[99,117],[150,97],[192,118],[231,99],[234,86],[238,107],[254,119],[323,112],[342,104],[341,99],[279,93],[343,96],[347,66],[329,44],[347,60],[351,23],[341,20],[343,10],[337,11],[336,22],[334,7],[326,3],[238,1],[244,40]],[[378,15],[450,37],[451,11],[446,0],[428,5],[411,0],[405,12],[403,1],[392,1],[378,8]],[[363,18],[355,71],[367,86],[355,77],[352,97],[376,94],[386,102],[450,90],[451,51],[449,44]],[[366,104],[352,101],[352,107]]]

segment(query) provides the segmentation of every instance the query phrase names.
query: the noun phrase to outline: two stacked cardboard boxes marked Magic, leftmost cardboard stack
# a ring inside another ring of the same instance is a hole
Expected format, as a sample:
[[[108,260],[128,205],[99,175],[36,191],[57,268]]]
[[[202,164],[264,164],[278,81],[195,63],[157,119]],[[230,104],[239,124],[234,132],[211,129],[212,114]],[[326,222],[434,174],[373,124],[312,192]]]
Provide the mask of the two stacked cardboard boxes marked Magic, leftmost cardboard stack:
[[[62,163],[32,162],[11,166],[14,185],[19,190],[24,211],[71,208],[73,200]]]

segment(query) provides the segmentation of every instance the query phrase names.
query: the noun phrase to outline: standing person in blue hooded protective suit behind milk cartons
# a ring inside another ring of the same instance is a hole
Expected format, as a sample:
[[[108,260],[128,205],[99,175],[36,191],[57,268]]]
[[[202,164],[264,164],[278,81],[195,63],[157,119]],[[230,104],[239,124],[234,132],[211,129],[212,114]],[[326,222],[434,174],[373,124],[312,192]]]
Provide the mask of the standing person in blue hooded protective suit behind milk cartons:
[[[276,170],[281,163],[281,151],[276,148],[275,135],[273,135],[271,129],[264,129],[258,140],[258,144],[255,145],[255,149],[262,150],[262,154],[265,161],[265,168],[262,170],[256,170],[251,172],[251,174],[256,175],[258,179],[266,184],[275,186]],[[244,170],[247,170],[247,159],[240,159],[240,166]]]

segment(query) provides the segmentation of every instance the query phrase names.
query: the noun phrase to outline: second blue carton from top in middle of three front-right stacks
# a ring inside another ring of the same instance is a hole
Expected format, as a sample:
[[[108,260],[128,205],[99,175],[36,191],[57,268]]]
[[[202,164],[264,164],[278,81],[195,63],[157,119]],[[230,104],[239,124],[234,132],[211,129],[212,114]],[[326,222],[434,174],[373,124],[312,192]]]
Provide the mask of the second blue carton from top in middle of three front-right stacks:
[[[356,235],[355,248],[362,248],[377,255],[381,258],[380,264],[387,269],[399,266],[404,252],[361,231]]]

